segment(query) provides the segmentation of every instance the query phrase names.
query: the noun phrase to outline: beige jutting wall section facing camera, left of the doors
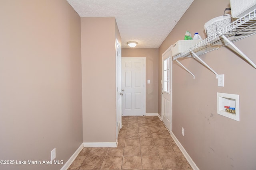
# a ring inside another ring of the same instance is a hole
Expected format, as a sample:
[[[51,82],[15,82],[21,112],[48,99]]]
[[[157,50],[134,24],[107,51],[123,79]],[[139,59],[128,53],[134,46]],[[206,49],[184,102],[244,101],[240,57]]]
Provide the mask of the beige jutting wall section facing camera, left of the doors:
[[[116,142],[115,18],[81,18],[83,141]]]

